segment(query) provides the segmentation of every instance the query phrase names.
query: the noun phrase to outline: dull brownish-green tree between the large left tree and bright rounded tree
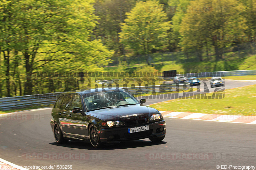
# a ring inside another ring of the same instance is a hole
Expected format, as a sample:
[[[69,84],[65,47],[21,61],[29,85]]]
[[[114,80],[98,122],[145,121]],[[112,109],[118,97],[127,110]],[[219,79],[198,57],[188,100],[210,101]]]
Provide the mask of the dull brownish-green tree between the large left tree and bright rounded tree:
[[[135,6],[136,0],[96,0],[95,15],[99,17],[92,39],[101,39],[108,48],[115,50],[115,56],[125,55],[124,46],[119,41],[121,24],[125,13]]]

